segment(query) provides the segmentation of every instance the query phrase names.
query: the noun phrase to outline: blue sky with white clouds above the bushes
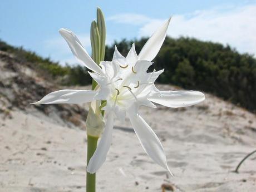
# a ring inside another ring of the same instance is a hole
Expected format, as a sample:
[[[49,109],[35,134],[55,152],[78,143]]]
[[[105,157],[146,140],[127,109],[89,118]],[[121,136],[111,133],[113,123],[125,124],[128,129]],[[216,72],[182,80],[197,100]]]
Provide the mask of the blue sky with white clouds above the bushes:
[[[6,0],[0,4],[0,39],[62,64],[77,63],[58,29],[71,29],[91,52],[90,25],[98,6],[109,45],[149,37],[171,16],[170,37],[229,44],[256,56],[256,0]]]

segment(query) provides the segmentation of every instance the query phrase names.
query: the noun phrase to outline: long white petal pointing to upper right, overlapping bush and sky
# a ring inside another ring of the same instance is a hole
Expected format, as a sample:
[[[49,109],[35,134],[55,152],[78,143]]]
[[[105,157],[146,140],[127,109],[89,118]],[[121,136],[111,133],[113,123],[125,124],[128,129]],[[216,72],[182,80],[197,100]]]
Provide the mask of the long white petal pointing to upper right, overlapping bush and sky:
[[[170,19],[171,18],[169,18],[168,21],[165,22],[159,29],[157,29],[157,31],[153,33],[149,40],[147,40],[144,47],[140,51],[140,60],[152,61],[155,58],[164,43]]]

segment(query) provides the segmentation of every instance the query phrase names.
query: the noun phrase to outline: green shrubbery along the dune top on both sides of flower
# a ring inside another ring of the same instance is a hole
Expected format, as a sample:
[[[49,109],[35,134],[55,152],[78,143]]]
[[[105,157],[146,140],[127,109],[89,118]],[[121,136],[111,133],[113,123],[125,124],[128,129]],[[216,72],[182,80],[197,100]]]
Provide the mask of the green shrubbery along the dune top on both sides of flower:
[[[135,40],[137,53],[147,38]],[[115,45],[120,53],[127,55],[133,41],[122,40],[106,46],[105,61],[112,61]],[[15,53],[19,60],[31,62],[35,68],[60,80],[62,85],[88,85],[91,77],[80,65],[61,66],[50,58],[7,45],[0,41],[0,50]],[[166,37],[164,45],[149,68],[165,69],[158,83],[173,84],[188,90],[213,93],[236,105],[256,112],[256,60],[252,55],[240,54],[230,46],[203,42],[194,38]],[[73,63],[72,63],[73,64]],[[123,66],[126,63],[121,63]]]

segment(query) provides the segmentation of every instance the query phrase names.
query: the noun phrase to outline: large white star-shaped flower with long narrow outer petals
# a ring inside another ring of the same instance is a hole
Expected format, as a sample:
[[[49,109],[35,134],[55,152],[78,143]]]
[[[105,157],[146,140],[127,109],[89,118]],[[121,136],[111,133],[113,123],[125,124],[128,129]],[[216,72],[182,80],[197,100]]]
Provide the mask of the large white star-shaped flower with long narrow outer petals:
[[[156,107],[152,102],[167,107],[186,107],[205,99],[198,91],[159,91],[154,82],[164,71],[147,73],[152,60],[159,52],[166,36],[170,19],[149,38],[139,55],[134,44],[127,57],[123,57],[117,48],[111,62],[101,62],[100,67],[91,59],[81,42],[68,29],[60,29],[60,33],[70,46],[73,55],[90,72],[99,84],[97,90],[60,90],[49,93],[35,104],[80,104],[95,100],[106,100],[104,107],[106,125],[97,149],[87,166],[89,173],[95,173],[106,160],[112,137],[114,119],[124,120],[129,117],[132,127],[147,155],[155,163],[169,170],[165,152],[155,132],[138,114],[141,105]],[[171,173],[171,172],[170,172]]]

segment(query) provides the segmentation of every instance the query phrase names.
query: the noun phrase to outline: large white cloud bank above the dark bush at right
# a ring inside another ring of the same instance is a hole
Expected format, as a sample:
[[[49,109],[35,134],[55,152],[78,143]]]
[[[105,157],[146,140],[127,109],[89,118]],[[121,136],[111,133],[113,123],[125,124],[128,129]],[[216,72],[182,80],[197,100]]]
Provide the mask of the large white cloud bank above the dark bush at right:
[[[256,55],[256,5],[213,8],[191,14],[173,16],[168,35],[188,36],[203,41],[220,42],[237,48],[239,52]],[[139,30],[140,36],[150,36],[164,22],[151,19]]]

